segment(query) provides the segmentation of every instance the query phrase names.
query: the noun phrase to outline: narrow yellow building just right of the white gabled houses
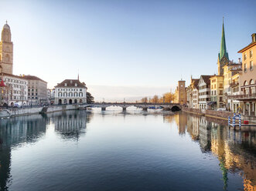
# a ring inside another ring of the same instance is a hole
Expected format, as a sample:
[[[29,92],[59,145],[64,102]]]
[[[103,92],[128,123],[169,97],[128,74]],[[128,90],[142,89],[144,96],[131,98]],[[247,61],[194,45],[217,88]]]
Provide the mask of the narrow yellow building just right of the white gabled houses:
[[[210,78],[210,101],[208,103],[212,109],[224,108],[224,95],[223,95],[223,75],[213,75]]]

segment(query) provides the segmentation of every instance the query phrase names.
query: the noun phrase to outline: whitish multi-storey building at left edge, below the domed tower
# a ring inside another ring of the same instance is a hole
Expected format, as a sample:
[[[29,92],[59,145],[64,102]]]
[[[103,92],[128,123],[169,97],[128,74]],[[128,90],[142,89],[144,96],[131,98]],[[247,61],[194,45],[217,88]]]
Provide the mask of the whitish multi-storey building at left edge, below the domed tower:
[[[28,105],[28,80],[22,76],[2,73],[5,87],[2,88],[1,105],[13,106],[15,102],[21,102],[23,106]]]

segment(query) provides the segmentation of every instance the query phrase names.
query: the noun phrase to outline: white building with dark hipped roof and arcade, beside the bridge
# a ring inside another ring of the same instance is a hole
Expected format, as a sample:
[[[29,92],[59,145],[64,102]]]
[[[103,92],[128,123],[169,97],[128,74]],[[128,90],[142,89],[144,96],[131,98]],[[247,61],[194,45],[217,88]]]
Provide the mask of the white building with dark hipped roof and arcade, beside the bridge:
[[[65,79],[55,86],[55,104],[87,102],[87,87],[79,79]]]

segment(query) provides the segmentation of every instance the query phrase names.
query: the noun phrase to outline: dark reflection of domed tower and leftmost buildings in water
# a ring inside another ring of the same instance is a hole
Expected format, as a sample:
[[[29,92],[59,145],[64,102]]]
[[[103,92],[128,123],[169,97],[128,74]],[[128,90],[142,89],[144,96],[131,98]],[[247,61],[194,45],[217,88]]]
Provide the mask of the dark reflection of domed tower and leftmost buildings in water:
[[[47,119],[43,116],[21,116],[2,119],[0,126],[0,190],[11,181],[11,150],[26,142],[36,142],[46,132]]]

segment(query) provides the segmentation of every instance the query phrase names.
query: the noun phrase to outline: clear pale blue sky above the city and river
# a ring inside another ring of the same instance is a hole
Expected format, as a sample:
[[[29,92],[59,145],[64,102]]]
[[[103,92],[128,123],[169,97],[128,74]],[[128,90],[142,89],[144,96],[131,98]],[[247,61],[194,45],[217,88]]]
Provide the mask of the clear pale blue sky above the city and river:
[[[223,16],[237,61],[256,32],[255,7],[255,0],[0,0],[0,25],[11,27],[15,74],[53,87],[79,70],[96,99],[121,99],[217,73]]]

